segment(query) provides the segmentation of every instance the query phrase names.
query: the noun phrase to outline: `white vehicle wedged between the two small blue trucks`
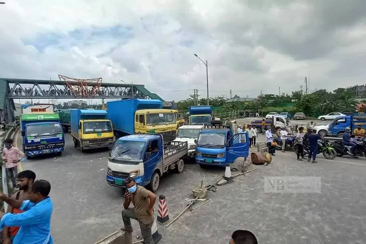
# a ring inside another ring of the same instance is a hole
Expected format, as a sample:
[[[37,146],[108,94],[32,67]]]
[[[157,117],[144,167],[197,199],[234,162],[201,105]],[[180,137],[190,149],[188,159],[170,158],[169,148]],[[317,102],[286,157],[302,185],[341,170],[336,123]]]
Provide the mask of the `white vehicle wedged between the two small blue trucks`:
[[[188,159],[194,159],[196,155],[196,143],[203,125],[183,125],[178,128],[177,137],[174,141],[188,143]]]

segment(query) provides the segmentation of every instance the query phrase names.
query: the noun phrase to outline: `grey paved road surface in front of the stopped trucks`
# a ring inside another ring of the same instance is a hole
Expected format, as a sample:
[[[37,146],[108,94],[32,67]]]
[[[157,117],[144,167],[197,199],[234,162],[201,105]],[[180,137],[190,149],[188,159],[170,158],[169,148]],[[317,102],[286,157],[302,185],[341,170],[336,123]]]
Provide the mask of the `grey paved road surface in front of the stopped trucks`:
[[[92,244],[122,227],[122,191],[106,183],[107,151],[81,153],[70,134],[66,140],[62,156],[28,160],[23,168],[51,182],[55,243]],[[233,184],[209,192],[211,203],[183,214],[169,228],[159,226],[159,244],[225,244],[237,229],[252,231],[259,243],[364,244],[366,159],[320,155],[311,164],[294,160],[293,152],[276,154],[268,166],[255,166]],[[185,208],[185,199],[194,198],[191,188],[201,179],[210,184],[223,174],[187,164],[181,174],[163,177],[157,195],[166,196],[170,219]],[[265,193],[265,176],[321,177],[321,193]],[[133,226],[140,235],[136,222]]]

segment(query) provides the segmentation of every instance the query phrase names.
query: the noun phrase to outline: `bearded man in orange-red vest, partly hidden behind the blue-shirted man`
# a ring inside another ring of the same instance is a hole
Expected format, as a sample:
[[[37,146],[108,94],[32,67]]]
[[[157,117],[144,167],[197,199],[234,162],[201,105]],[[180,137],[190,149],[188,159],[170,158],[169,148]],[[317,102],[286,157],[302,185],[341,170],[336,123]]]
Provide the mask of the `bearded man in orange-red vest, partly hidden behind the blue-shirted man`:
[[[31,170],[24,170],[18,173],[16,176],[17,181],[17,187],[19,188],[19,191],[12,195],[10,198],[18,200],[18,201],[24,201],[29,199],[29,189],[30,185],[35,180],[35,173]],[[7,208],[7,213],[12,214],[20,214],[24,211],[20,209],[16,209],[11,207],[10,205]],[[2,231],[2,244],[11,244],[14,241],[14,238],[16,234],[18,233],[20,227],[4,227]]]

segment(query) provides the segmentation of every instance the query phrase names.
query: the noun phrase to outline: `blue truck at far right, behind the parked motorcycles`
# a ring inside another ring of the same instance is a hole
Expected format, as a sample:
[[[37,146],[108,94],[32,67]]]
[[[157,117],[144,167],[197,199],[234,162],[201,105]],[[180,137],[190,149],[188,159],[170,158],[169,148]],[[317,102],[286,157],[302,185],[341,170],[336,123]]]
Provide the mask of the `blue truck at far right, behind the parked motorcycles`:
[[[329,124],[328,135],[343,137],[346,127],[351,127],[353,133],[358,124],[366,129],[366,116],[339,116]]]

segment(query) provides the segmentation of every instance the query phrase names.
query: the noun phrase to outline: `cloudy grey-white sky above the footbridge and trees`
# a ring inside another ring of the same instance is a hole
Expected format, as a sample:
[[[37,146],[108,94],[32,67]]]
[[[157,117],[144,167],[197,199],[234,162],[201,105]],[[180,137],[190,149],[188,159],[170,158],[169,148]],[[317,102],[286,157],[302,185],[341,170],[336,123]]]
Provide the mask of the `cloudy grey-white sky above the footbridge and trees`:
[[[365,84],[365,0],[1,0],[0,77],[103,77],[165,100]],[[291,2],[291,3],[289,3]]]

